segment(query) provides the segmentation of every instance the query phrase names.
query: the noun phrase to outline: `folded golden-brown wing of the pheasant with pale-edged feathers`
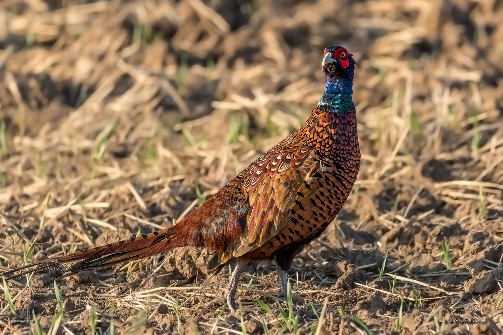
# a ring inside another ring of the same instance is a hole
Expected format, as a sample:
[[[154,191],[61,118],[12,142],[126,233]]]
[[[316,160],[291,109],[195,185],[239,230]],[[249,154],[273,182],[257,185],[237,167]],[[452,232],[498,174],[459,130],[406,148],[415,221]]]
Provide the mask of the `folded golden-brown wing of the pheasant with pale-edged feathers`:
[[[257,249],[288,225],[299,192],[310,192],[309,175],[316,154],[309,143],[308,130],[301,128],[238,176],[247,190],[250,211],[232,256]]]

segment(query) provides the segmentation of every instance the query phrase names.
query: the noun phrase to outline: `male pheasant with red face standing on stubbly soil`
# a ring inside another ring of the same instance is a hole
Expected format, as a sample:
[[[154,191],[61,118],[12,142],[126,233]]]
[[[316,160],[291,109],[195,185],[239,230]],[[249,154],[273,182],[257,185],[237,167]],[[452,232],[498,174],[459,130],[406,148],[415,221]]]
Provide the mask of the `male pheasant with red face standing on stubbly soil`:
[[[276,260],[287,293],[293,258],[326,229],[345,203],[360,167],[355,61],[343,47],[324,50],[325,91],[306,123],[251,163],[177,225],[129,240],[44,260],[3,273],[7,279],[60,266],[64,276],[157,255],[184,246],[208,247],[215,269],[236,266],[225,290],[227,306],[243,266]]]

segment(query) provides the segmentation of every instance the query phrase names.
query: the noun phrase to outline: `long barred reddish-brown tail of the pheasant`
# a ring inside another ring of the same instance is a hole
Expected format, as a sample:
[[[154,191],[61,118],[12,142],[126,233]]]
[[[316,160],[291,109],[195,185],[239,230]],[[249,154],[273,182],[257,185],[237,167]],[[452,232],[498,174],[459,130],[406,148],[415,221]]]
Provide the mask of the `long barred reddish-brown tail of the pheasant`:
[[[176,236],[175,227],[177,226],[71,255],[31,263],[4,272],[1,276],[14,279],[34,271],[61,265],[64,270],[62,277],[66,277],[80,271],[104,268],[157,255],[186,245],[183,239]]]

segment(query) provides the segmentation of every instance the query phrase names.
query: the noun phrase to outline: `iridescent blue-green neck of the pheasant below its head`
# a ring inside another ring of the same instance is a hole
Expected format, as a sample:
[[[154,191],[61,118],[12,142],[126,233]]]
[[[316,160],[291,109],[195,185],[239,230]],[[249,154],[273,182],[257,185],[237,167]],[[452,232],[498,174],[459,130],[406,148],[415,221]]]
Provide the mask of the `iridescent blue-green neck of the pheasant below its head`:
[[[326,104],[336,113],[355,111],[353,94],[353,81],[348,78],[326,77],[325,92],[318,105]]]

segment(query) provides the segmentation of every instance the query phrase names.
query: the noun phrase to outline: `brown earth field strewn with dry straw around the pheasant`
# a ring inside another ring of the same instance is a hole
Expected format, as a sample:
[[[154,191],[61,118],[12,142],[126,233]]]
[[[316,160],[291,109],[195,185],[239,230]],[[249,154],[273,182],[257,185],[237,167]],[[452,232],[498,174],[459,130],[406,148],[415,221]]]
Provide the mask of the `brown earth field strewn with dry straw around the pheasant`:
[[[334,44],[362,167],[294,261],[292,316],[274,264],[229,314],[232,266],[186,248],[57,280],[57,333],[500,334],[500,0],[3,1],[0,269],[171,227],[300,127]],[[58,271],[9,282],[15,313],[0,290],[0,334],[49,329]]]

